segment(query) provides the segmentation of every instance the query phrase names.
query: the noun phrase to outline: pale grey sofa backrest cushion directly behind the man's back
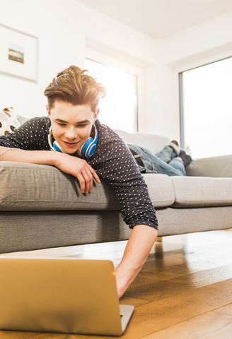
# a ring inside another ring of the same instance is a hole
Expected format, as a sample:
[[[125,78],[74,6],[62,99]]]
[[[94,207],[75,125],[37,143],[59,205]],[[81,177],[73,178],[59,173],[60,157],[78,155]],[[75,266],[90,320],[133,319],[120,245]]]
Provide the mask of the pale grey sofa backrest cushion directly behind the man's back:
[[[125,131],[120,131],[120,129],[114,130],[125,143],[131,143],[134,145],[139,145],[148,150],[151,150],[151,153],[156,154],[162,148],[170,143],[170,139],[166,136],[156,136],[149,133],[128,133]]]

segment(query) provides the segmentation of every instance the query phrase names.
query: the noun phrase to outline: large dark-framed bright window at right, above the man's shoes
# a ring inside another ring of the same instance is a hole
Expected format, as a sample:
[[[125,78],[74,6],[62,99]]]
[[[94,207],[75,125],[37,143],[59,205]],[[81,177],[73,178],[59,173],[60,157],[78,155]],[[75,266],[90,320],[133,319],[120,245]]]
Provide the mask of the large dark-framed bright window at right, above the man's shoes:
[[[231,154],[232,58],[180,73],[182,147],[193,158]]]

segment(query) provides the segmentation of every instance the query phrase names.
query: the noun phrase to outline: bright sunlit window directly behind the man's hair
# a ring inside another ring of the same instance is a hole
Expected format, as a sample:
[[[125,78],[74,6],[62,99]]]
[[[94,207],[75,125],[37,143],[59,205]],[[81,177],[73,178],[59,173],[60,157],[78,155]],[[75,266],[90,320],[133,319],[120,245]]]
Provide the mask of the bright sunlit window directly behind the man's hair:
[[[85,69],[107,90],[100,100],[100,122],[112,129],[137,131],[137,76],[90,59],[86,59]]]

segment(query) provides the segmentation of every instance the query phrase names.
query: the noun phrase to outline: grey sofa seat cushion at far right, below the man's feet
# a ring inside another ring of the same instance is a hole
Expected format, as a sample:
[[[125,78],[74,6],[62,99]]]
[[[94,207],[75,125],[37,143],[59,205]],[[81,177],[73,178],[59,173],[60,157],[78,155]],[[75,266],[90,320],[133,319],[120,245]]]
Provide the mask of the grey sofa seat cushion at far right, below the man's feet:
[[[171,177],[175,207],[232,205],[232,178]]]

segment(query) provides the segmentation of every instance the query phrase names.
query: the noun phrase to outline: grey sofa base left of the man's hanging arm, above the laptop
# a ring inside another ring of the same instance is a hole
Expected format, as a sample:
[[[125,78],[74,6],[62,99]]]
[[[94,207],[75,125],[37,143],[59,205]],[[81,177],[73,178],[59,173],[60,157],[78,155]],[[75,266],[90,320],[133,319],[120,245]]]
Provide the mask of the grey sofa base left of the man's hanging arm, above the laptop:
[[[0,211],[0,253],[115,242],[131,232],[119,211]]]

